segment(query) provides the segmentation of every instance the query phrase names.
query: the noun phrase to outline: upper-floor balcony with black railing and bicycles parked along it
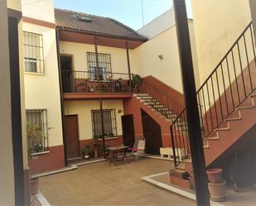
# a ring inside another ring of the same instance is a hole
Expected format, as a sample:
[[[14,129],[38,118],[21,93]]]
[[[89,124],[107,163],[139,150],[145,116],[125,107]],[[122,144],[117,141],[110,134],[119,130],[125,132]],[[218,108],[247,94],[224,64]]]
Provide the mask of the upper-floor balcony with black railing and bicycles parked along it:
[[[62,70],[65,100],[133,97],[129,74],[99,71]]]

